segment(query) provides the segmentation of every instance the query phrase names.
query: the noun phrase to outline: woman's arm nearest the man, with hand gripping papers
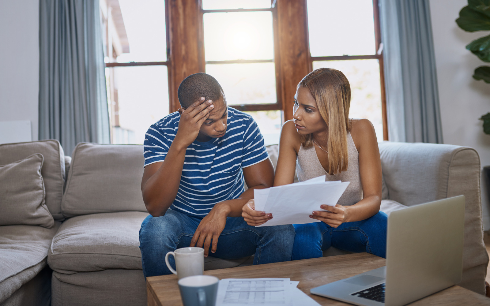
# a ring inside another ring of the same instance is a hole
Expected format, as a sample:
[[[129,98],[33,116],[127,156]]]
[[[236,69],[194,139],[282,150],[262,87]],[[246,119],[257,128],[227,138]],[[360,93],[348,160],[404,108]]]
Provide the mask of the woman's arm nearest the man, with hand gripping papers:
[[[279,157],[274,176],[274,186],[291,184],[294,182],[296,155],[299,150],[299,134],[296,132],[293,120],[286,121],[281,129],[279,140]],[[272,218],[270,213],[255,210],[254,200],[251,199],[242,208],[242,217],[250,226],[264,224]]]

